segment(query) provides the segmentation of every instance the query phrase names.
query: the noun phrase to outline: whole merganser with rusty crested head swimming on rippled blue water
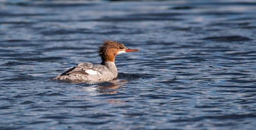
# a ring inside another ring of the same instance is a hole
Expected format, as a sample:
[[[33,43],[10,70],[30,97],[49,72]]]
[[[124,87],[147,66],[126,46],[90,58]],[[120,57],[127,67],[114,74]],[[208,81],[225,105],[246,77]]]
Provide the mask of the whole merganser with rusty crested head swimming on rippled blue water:
[[[106,82],[117,77],[115,56],[122,53],[139,51],[138,49],[126,48],[123,44],[116,41],[104,40],[99,47],[101,64],[80,63],[75,67],[57,75],[52,80],[71,81],[71,82]]]

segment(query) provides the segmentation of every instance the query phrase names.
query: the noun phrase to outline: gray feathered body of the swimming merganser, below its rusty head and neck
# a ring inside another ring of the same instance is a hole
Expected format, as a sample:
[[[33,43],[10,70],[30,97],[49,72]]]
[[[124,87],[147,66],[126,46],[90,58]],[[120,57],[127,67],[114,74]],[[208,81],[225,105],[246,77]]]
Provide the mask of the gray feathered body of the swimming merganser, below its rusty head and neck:
[[[117,77],[117,68],[114,62],[101,64],[80,63],[75,67],[57,75],[53,80],[71,82],[105,82]]]

